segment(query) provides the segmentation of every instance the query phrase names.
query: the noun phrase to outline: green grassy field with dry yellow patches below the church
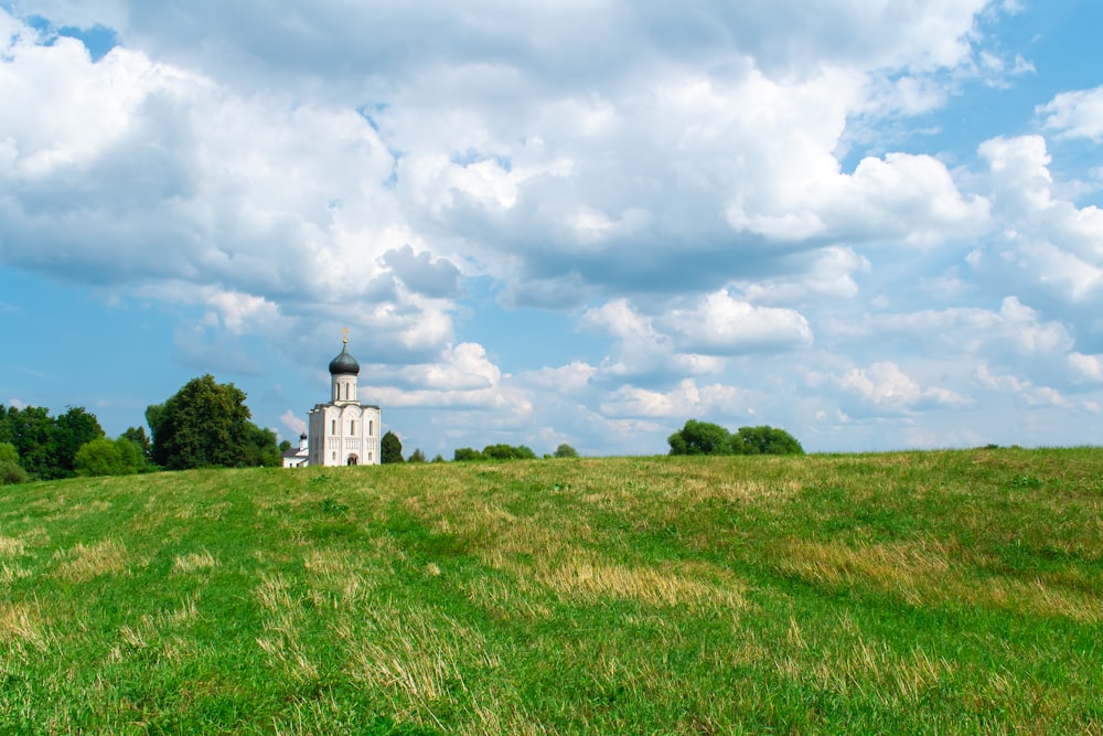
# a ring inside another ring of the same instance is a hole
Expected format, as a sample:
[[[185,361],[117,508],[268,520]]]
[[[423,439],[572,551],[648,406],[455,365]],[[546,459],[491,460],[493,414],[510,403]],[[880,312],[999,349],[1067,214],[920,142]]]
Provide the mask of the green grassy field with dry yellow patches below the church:
[[[1103,734],[1103,450],[0,492],[0,733]]]

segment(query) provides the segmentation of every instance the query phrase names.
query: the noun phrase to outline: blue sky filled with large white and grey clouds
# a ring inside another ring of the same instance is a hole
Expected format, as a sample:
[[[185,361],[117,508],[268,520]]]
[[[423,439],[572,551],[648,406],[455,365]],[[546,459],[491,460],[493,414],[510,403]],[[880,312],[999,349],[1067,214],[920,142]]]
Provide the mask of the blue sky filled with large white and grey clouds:
[[[0,0],[0,403],[1103,441],[1097,0]]]

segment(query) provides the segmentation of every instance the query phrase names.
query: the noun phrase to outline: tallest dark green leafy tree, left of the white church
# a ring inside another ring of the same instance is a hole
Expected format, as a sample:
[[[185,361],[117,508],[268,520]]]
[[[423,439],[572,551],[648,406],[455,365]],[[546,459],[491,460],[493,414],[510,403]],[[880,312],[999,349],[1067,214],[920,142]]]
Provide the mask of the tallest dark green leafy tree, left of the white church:
[[[211,374],[192,378],[164,404],[146,409],[153,462],[169,470],[257,465],[250,416],[245,392],[234,384],[215,383]]]

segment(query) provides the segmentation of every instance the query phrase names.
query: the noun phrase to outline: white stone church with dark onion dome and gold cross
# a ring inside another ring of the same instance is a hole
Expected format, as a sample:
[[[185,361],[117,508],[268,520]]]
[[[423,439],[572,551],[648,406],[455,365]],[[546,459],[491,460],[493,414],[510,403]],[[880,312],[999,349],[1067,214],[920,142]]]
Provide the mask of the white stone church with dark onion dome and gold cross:
[[[299,447],[283,454],[285,468],[304,466],[379,465],[383,413],[361,404],[356,395],[360,363],[349,354],[345,330],[341,354],[330,361],[330,401],[308,413],[307,431]]]

